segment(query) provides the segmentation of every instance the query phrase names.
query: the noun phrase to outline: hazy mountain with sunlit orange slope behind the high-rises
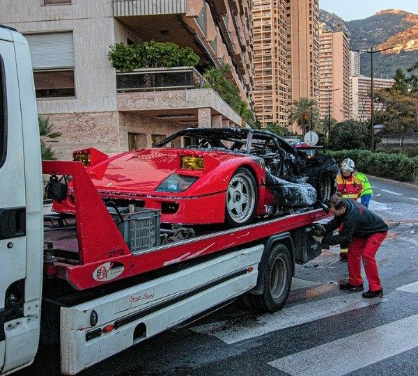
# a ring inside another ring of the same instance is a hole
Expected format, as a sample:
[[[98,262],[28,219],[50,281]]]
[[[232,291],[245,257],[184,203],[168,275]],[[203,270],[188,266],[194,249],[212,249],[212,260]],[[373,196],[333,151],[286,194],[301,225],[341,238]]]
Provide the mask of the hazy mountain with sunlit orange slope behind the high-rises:
[[[418,61],[418,15],[403,10],[382,10],[376,15],[354,21],[320,10],[320,22],[332,31],[344,31],[350,40],[350,49],[386,49],[373,54],[375,77],[392,78],[396,69],[405,73]],[[370,76],[371,54],[362,54],[360,71]]]

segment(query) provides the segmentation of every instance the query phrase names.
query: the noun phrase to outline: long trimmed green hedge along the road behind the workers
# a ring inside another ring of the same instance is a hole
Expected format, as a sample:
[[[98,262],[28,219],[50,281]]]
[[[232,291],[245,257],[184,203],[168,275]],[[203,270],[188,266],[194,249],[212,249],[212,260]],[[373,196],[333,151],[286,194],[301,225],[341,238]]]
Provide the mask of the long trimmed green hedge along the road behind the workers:
[[[328,150],[327,154],[334,157],[338,164],[343,159],[353,159],[357,170],[362,173],[399,182],[418,183],[418,157],[410,158],[403,154],[387,154],[358,149]]]

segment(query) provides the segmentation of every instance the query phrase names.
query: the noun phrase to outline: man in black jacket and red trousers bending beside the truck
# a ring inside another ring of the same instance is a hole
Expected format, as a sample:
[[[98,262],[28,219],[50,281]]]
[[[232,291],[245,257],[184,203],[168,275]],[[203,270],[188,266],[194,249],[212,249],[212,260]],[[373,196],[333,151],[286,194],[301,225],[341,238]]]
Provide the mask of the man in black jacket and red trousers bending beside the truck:
[[[371,299],[383,295],[375,255],[387,235],[387,224],[367,207],[347,198],[332,196],[328,201],[334,218],[323,225],[325,236],[314,235],[323,244],[348,247],[348,282],[341,283],[341,290],[362,291],[361,260],[369,282],[369,291],[362,297]],[[322,226],[322,225],[318,225]],[[341,226],[338,235],[332,235]],[[317,233],[316,233],[317,234]]]

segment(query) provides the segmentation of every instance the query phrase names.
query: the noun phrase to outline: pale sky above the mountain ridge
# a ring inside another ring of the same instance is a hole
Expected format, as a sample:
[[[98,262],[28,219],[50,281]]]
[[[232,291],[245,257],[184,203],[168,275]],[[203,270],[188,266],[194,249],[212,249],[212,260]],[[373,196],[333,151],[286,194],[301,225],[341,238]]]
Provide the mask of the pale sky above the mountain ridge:
[[[418,14],[418,0],[319,0],[319,8],[343,21],[364,19],[384,9],[400,9]]]

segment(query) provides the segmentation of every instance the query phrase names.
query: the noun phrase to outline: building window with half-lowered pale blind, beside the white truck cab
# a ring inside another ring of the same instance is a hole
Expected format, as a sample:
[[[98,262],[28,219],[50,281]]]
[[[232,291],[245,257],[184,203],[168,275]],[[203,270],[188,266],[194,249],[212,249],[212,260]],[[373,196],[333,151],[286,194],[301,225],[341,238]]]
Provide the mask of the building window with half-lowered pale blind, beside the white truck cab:
[[[74,42],[71,32],[29,34],[36,97],[75,97]]]

